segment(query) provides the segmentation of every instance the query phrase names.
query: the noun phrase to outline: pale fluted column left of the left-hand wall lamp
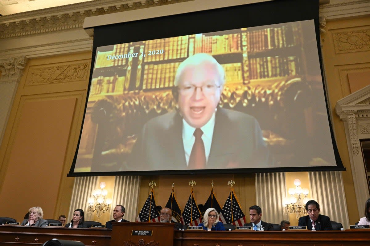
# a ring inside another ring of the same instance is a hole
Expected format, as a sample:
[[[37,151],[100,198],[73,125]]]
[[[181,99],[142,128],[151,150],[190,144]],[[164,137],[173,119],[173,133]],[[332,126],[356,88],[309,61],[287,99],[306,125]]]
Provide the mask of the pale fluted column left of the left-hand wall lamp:
[[[91,196],[92,190],[97,186],[98,177],[76,177],[74,180],[70,209],[67,214],[67,223],[72,219],[75,209],[81,208],[85,211],[85,221],[94,218],[94,214],[87,213],[87,199]]]

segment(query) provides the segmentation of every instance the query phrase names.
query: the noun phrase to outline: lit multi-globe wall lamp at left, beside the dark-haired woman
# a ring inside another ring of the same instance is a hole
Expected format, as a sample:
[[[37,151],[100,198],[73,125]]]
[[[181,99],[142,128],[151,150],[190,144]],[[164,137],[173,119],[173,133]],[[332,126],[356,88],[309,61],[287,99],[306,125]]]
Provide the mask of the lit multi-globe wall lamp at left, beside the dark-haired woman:
[[[87,212],[92,214],[96,211],[96,215],[98,218],[100,218],[101,214],[104,214],[105,212],[111,211],[111,204],[112,199],[106,198],[108,191],[104,190],[105,182],[100,183],[100,189],[96,189],[92,191],[92,197],[89,197],[87,199],[88,202],[88,208]]]

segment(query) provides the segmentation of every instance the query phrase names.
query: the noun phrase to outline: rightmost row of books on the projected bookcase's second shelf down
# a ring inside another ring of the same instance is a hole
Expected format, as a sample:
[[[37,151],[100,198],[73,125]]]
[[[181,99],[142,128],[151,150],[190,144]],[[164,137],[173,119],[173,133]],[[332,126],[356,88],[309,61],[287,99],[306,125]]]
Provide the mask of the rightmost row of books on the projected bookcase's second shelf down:
[[[294,76],[299,73],[297,56],[269,56],[249,60],[249,79]]]

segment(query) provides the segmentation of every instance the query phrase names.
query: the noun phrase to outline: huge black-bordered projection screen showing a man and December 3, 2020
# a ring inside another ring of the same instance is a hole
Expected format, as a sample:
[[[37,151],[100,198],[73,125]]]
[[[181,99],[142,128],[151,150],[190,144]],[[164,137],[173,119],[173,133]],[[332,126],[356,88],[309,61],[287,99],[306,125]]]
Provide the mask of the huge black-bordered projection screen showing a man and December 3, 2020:
[[[293,2],[95,27],[68,175],[345,170],[323,86],[318,1]],[[195,128],[206,158],[196,167]]]

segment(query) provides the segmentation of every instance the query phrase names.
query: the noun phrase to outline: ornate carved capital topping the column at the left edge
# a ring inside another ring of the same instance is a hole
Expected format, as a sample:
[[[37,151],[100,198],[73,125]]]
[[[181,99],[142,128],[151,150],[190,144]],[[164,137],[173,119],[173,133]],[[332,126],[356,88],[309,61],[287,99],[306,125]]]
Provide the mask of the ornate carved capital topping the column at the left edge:
[[[0,58],[0,83],[19,82],[26,63],[27,58],[25,56]]]

